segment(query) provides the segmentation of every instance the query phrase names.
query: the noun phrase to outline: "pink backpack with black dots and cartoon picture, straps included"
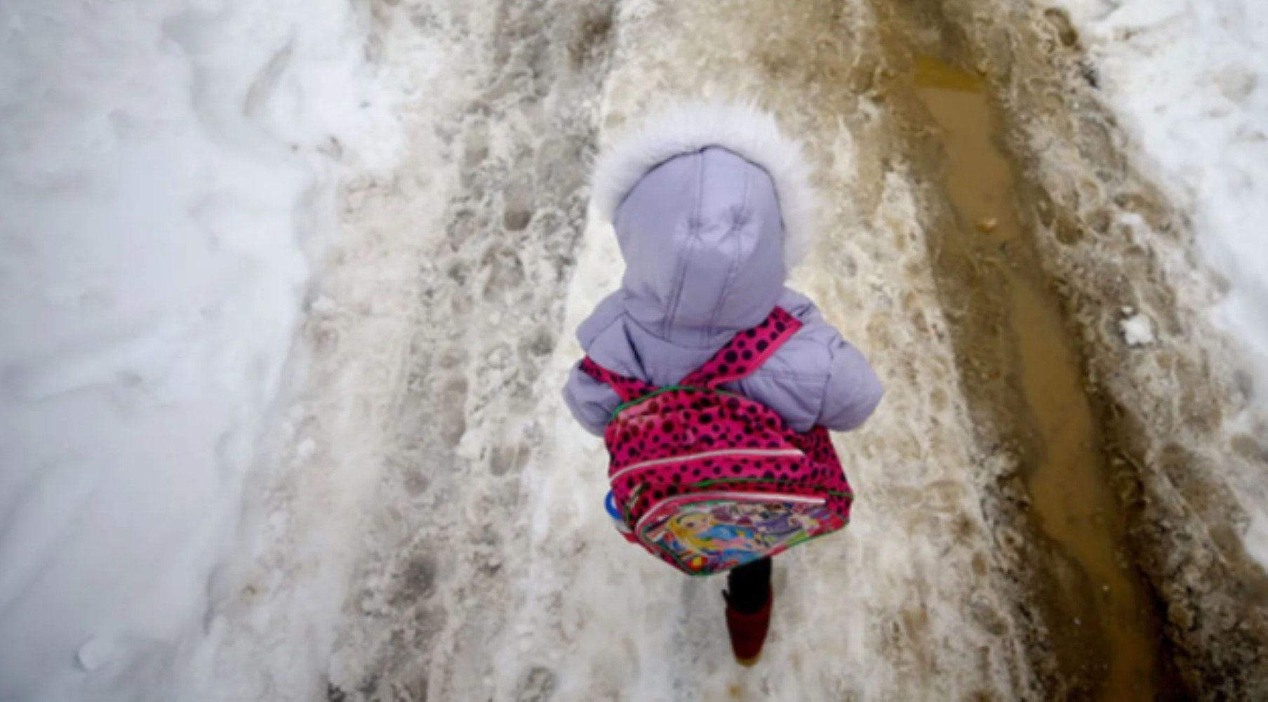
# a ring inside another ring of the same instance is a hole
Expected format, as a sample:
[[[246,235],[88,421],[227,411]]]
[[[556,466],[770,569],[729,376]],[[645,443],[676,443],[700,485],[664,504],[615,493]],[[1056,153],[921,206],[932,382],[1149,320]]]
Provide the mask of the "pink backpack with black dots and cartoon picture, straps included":
[[[799,434],[761,402],[718,388],[756,371],[800,328],[776,307],[670,387],[582,361],[624,402],[604,440],[625,538],[683,573],[710,575],[846,526],[853,493],[828,430]]]

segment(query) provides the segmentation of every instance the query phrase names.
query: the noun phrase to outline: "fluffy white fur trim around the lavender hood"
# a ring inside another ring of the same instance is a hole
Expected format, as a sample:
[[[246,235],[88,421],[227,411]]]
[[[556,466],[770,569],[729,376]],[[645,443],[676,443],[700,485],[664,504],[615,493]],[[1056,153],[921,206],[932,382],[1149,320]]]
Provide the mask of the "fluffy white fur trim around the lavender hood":
[[[784,221],[784,269],[791,270],[813,242],[809,166],[800,145],[780,132],[773,117],[752,105],[683,103],[618,137],[595,164],[591,198],[597,215],[611,222],[625,195],[648,171],[709,146],[743,156],[775,182]]]

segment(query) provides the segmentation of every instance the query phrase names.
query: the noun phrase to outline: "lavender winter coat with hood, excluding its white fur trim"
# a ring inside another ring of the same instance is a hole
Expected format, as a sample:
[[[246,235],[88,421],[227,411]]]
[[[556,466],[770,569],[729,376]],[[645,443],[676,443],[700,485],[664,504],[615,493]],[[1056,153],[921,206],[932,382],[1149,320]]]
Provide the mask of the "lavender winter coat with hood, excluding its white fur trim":
[[[596,363],[672,385],[779,305],[805,326],[756,373],[724,387],[799,432],[852,429],[875,410],[883,391],[867,361],[784,286],[785,234],[766,170],[721,147],[673,156],[638,179],[612,223],[625,278],[577,330]],[[564,399],[595,434],[620,404],[576,367]]]

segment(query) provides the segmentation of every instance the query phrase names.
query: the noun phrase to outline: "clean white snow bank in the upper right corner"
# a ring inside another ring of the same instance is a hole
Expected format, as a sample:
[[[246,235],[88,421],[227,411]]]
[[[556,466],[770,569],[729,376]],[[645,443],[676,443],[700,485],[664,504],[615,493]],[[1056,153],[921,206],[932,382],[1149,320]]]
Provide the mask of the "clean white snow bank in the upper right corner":
[[[1211,311],[1268,405],[1268,11],[1259,0],[1060,0],[1107,102],[1227,279]]]

